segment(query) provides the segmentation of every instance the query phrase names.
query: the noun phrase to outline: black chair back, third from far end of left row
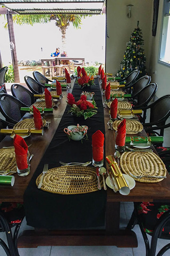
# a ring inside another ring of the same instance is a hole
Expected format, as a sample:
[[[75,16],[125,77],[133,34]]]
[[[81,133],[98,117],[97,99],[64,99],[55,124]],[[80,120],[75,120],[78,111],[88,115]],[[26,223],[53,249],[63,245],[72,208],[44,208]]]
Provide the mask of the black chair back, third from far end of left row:
[[[35,98],[33,97],[33,93],[20,84],[12,84],[11,85],[12,95],[20,100],[23,104],[30,107],[33,103],[35,103]]]

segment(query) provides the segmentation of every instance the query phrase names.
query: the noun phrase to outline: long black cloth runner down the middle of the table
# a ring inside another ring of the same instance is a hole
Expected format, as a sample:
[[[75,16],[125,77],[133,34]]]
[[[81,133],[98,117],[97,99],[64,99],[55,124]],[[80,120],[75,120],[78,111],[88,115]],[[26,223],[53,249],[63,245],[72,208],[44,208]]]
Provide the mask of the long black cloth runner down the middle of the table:
[[[47,229],[79,229],[101,227],[105,225],[106,191],[104,189],[92,193],[79,195],[53,194],[38,189],[36,179],[43,171],[45,163],[48,169],[61,166],[59,161],[87,162],[92,159],[91,136],[97,130],[105,134],[104,111],[98,79],[88,88],[95,92],[94,99],[98,113],[84,120],[67,113],[70,106],[66,107],[56,133],[50,142],[36,172],[34,173],[24,193],[24,208],[27,224],[37,228]],[[79,100],[82,90],[74,84],[72,94]],[[69,142],[63,129],[69,125],[87,125],[88,140]]]

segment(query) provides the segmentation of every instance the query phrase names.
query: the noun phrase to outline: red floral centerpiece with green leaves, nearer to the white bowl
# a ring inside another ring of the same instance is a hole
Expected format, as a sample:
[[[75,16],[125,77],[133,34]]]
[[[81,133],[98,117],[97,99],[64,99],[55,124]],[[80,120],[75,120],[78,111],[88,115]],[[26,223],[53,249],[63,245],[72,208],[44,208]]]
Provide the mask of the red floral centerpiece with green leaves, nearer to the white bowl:
[[[80,100],[75,102],[74,96],[72,93],[67,94],[67,103],[71,106],[69,113],[73,116],[81,117],[87,119],[95,114],[97,114],[96,102],[87,101],[86,95],[81,95]]]

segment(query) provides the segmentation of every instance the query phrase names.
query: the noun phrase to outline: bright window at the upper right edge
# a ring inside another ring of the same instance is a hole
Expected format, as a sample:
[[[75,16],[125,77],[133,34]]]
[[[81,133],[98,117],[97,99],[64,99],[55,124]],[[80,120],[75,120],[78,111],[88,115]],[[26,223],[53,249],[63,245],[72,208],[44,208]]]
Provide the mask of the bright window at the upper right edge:
[[[159,61],[170,67],[170,0],[164,0],[163,27]]]

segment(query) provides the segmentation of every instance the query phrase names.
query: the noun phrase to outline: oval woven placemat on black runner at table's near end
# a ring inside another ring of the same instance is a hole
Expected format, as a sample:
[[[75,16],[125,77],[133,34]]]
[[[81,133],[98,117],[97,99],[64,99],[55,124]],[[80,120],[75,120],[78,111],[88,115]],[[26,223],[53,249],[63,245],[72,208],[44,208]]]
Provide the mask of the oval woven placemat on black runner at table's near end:
[[[36,179],[38,186],[42,173]],[[100,177],[103,186],[103,180]],[[97,191],[96,169],[83,166],[61,166],[48,170],[41,189],[55,194],[84,194]]]

